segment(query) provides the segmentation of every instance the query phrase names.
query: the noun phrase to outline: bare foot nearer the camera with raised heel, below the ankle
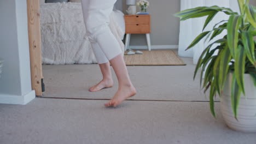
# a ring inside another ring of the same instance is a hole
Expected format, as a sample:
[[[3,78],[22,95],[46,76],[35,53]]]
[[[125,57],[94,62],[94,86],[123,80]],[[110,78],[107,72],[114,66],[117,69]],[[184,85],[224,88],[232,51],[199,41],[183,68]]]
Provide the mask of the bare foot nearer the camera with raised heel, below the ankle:
[[[118,89],[117,93],[115,93],[114,97],[108,101],[105,106],[117,106],[121,104],[124,100],[127,98],[132,97],[133,95],[136,94],[136,89],[133,86],[126,86]]]

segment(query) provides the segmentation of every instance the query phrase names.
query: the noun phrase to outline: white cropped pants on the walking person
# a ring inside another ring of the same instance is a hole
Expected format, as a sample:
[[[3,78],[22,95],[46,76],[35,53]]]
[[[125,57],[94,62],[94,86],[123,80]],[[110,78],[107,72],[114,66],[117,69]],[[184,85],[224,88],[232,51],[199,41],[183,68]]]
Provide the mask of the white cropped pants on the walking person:
[[[122,51],[109,28],[109,17],[117,0],[82,0],[86,34],[98,64],[107,63]]]

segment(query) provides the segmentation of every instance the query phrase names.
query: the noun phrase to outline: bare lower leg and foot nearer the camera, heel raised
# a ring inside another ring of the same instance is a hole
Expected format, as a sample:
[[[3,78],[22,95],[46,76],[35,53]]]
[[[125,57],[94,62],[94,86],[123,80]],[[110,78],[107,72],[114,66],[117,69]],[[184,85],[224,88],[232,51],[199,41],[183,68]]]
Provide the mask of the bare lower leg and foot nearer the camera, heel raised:
[[[105,106],[117,106],[121,104],[127,98],[132,97],[136,94],[136,89],[132,85],[126,65],[124,62],[123,54],[120,54],[110,60],[115,74],[118,77],[118,91],[115,93],[114,97],[108,101]]]

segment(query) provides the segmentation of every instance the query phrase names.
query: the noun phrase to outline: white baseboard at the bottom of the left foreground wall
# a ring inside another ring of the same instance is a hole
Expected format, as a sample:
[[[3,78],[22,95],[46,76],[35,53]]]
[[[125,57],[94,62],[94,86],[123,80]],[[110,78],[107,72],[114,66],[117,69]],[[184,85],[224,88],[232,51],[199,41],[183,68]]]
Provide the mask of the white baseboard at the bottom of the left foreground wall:
[[[31,91],[25,95],[0,94],[0,104],[26,105],[36,98],[36,92]]]

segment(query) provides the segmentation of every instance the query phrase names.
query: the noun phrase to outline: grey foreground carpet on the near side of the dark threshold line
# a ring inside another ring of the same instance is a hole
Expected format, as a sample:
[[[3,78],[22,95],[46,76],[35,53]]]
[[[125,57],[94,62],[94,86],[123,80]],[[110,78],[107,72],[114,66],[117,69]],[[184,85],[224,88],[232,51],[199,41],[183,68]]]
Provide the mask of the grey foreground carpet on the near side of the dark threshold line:
[[[208,103],[125,101],[105,108],[104,100],[36,98],[27,105],[0,104],[0,143],[56,144],[241,144],[255,134],[232,131]]]

